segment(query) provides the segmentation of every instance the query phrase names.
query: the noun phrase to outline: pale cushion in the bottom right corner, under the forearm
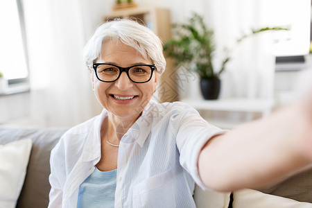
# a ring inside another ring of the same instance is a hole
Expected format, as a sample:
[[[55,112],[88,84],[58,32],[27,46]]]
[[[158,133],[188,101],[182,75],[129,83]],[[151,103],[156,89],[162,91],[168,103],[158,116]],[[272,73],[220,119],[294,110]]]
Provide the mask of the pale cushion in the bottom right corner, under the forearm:
[[[298,202],[289,198],[273,196],[252,189],[233,193],[233,208],[312,208],[309,202]]]

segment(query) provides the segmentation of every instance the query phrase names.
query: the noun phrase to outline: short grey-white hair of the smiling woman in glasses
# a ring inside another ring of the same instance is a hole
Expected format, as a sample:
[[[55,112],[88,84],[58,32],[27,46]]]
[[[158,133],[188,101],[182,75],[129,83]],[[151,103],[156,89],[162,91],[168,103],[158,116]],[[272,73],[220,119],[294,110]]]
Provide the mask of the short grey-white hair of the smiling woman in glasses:
[[[88,69],[100,57],[105,40],[117,39],[132,46],[144,58],[149,58],[161,74],[166,68],[162,41],[146,26],[132,19],[114,19],[98,26],[84,49],[84,58]]]

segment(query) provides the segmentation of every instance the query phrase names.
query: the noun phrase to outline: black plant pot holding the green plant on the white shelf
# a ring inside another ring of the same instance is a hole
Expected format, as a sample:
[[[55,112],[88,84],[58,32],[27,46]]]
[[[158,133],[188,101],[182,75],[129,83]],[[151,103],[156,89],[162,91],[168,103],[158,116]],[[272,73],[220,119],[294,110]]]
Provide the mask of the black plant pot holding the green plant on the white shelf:
[[[204,96],[205,100],[218,99],[220,93],[220,84],[221,82],[218,78],[200,80],[200,89],[202,91],[202,96]]]

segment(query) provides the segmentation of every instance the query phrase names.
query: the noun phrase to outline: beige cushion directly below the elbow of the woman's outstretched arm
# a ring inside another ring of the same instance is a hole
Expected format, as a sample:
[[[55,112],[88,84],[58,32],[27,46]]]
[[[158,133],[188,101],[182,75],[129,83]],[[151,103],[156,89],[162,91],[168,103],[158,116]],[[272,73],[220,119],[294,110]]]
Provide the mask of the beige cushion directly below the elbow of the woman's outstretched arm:
[[[196,185],[194,200],[197,208],[227,208],[230,193],[203,191]]]

